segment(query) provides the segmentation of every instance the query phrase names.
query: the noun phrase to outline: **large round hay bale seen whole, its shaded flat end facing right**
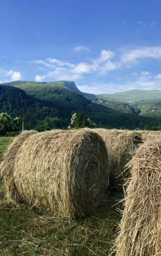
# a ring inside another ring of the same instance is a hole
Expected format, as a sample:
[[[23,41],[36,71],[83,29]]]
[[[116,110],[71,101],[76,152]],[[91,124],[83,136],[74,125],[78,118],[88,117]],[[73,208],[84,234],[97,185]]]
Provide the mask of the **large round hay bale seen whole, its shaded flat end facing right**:
[[[26,139],[12,175],[22,200],[72,219],[100,203],[107,166],[107,150],[97,133],[53,130]]]

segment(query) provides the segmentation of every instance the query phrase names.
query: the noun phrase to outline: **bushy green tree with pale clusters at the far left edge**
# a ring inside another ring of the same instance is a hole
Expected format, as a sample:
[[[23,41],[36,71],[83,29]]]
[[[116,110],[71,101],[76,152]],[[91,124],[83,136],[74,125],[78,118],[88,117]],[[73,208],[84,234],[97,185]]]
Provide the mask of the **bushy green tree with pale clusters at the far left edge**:
[[[12,118],[7,113],[0,114],[0,136],[4,136],[7,132],[17,131],[19,129],[20,118]]]

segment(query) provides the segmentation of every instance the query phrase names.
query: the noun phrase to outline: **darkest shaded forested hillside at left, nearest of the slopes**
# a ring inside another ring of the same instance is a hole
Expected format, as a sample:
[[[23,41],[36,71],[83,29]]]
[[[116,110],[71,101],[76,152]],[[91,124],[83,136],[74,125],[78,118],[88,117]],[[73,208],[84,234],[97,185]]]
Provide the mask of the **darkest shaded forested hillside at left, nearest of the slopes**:
[[[24,90],[8,85],[0,85],[0,112],[7,112],[12,117],[21,117],[24,112],[25,128],[35,128],[46,116],[56,117],[58,127],[66,125],[61,110],[50,107],[48,102],[27,95]],[[63,119],[62,119],[63,118]]]

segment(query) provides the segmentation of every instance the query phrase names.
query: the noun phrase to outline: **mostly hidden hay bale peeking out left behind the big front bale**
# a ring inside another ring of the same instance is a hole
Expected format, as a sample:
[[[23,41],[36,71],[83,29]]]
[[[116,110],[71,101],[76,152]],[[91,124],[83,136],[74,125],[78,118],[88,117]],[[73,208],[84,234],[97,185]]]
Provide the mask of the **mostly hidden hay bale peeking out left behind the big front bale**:
[[[8,147],[6,150],[6,153],[3,157],[3,162],[0,165],[0,171],[1,175],[4,178],[5,181],[5,187],[6,187],[6,196],[8,200],[16,202],[16,200],[19,198],[18,190],[15,187],[14,184],[14,162],[16,155],[18,153],[18,150],[24,143],[24,141],[29,138],[32,134],[37,133],[35,130],[30,131],[24,131],[23,133],[19,134],[13,141],[13,143]]]

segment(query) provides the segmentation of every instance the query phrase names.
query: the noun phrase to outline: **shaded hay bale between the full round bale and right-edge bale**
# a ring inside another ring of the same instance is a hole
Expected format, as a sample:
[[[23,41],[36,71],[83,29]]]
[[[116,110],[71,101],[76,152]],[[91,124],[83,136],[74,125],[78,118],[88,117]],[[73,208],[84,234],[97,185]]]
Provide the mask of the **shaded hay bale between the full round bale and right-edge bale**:
[[[142,138],[139,133],[129,130],[92,129],[105,142],[110,157],[109,187],[122,191],[125,179],[129,177],[128,169],[124,166],[132,158]]]

